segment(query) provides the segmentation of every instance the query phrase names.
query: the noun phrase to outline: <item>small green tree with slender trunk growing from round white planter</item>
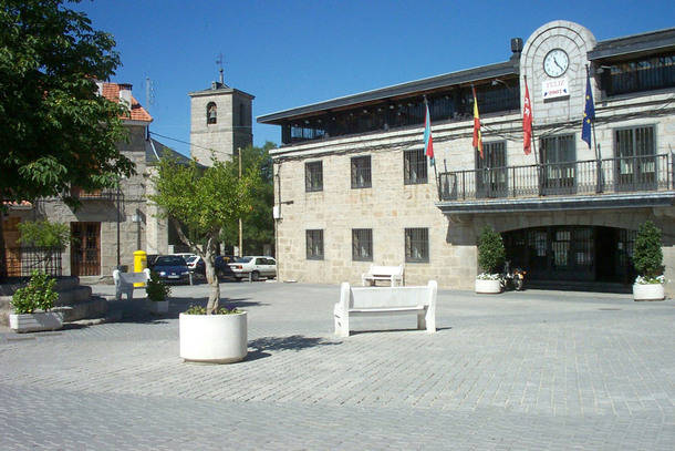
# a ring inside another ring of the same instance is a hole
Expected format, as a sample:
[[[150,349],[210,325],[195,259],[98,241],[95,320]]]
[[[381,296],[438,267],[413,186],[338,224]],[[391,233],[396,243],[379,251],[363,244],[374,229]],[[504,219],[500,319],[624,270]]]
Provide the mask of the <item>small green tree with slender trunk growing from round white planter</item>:
[[[250,214],[253,187],[260,177],[257,164],[240,178],[232,170],[235,163],[216,160],[212,163],[211,167],[202,168],[195,161],[185,165],[162,158],[157,175],[152,177],[157,194],[149,196],[162,207],[162,216],[172,221],[180,240],[204,259],[211,286],[207,314],[217,311],[220,301],[216,249],[221,229]]]

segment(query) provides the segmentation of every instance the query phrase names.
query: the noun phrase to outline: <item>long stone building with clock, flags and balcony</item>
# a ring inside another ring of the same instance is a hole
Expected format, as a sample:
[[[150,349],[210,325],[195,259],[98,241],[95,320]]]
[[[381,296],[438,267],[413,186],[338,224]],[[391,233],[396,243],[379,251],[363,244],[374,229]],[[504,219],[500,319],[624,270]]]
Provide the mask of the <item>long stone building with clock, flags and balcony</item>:
[[[591,146],[581,139],[586,70]],[[423,152],[425,99],[435,166]],[[635,230],[651,219],[672,296],[674,101],[675,29],[596,41],[553,21],[512,39],[503,62],[260,116],[281,126],[283,143],[271,152],[279,276],[359,283],[371,264],[405,263],[406,284],[471,289],[477,235],[489,225],[533,285],[625,288]]]

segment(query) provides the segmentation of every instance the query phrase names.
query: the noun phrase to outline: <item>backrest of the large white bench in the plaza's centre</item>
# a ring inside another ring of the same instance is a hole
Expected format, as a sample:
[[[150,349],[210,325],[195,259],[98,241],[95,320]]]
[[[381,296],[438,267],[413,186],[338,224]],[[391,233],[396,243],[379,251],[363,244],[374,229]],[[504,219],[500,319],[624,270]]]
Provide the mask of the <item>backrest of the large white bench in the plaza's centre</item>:
[[[436,280],[417,287],[351,287],[342,284],[341,303],[349,296],[347,308],[386,308],[428,306],[436,300]],[[349,293],[349,295],[347,295]]]

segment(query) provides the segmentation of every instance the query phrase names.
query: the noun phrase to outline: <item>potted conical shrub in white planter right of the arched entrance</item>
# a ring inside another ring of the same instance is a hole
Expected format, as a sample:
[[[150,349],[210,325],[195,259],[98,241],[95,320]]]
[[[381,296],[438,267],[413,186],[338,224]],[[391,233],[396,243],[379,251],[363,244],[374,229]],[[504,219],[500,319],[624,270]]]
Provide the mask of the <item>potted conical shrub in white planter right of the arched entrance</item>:
[[[633,248],[633,266],[637,278],[633,284],[633,299],[663,300],[663,252],[661,250],[661,229],[647,221],[637,229]]]

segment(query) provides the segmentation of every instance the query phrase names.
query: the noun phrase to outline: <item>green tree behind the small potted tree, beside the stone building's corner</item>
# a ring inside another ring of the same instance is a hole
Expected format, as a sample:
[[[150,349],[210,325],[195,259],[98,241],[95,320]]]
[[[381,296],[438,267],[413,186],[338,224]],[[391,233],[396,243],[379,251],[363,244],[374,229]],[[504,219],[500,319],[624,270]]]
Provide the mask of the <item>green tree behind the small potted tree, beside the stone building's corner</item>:
[[[248,146],[241,150],[241,170],[247,171],[256,166],[260,178],[253,186],[252,207],[249,215],[242,218],[243,249],[241,255],[259,254],[266,244],[274,242],[274,219],[272,218],[272,205],[274,204],[274,185],[272,181],[272,158],[269,151],[277,145],[271,142],[264,143],[262,147]],[[239,162],[233,160],[231,171],[238,171]],[[239,242],[239,222],[227,224],[221,235],[225,244]],[[246,249],[246,250],[245,250]]]

